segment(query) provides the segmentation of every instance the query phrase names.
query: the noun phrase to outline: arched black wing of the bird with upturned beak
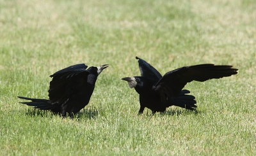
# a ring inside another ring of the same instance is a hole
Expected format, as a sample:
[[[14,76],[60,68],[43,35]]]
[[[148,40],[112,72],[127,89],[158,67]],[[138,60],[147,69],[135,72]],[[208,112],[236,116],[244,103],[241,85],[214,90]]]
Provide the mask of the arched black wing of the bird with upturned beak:
[[[90,74],[86,71],[87,67],[85,64],[76,64],[52,74],[48,90],[51,103],[61,104],[79,92],[84,92],[87,76]]]

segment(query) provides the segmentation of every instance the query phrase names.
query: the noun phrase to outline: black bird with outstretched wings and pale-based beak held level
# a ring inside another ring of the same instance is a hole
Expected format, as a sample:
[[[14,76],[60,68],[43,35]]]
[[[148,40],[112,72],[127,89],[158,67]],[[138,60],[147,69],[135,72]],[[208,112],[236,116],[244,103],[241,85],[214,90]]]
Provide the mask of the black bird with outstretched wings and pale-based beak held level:
[[[136,57],[139,62],[141,76],[122,78],[140,94],[140,111],[149,108],[152,113],[163,112],[169,106],[179,106],[188,110],[195,110],[195,97],[186,95],[189,90],[182,90],[188,82],[193,80],[204,82],[212,78],[223,78],[237,74],[238,69],[232,66],[215,66],[214,64],[199,64],[185,66],[169,71],[162,76],[145,60]]]

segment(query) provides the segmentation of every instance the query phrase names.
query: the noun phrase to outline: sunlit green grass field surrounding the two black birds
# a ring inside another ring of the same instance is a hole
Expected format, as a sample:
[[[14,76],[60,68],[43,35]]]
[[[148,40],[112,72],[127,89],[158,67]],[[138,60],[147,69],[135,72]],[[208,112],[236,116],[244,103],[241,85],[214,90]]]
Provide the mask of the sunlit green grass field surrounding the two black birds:
[[[254,0],[0,0],[0,155],[256,155]],[[185,89],[198,113],[140,108],[120,80],[140,76],[135,57],[160,73],[230,64],[235,76]],[[72,120],[19,104],[48,97],[49,75],[109,64]]]

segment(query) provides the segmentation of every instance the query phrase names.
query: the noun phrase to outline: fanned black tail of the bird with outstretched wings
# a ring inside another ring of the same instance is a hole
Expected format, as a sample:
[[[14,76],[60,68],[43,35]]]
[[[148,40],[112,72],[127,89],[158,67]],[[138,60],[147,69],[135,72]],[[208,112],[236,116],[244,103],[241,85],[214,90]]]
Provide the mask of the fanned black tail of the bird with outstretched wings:
[[[179,106],[181,108],[186,108],[188,110],[195,110],[197,107],[195,105],[195,96],[186,95],[188,93],[190,93],[189,90],[181,90],[179,97],[168,98],[170,100],[170,104]]]

